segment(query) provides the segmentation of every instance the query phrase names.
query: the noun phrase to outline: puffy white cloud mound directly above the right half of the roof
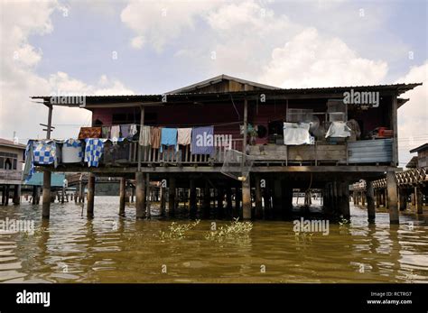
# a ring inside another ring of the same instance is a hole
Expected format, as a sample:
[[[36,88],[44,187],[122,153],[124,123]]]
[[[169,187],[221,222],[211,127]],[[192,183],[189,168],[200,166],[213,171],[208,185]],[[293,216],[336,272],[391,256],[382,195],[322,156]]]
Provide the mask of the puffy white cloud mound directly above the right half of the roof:
[[[339,38],[308,28],[274,49],[260,81],[278,87],[373,85],[387,69],[385,61],[361,58]]]

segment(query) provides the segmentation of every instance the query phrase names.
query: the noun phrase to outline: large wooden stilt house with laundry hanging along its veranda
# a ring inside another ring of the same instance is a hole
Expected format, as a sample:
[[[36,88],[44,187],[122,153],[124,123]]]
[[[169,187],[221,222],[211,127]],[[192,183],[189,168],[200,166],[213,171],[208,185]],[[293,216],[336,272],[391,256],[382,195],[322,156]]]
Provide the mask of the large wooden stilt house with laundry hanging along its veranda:
[[[27,162],[44,172],[44,217],[52,171],[89,173],[89,217],[96,177],[122,178],[120,214],[132,180],[136,218],[150,216],[154,182],[171,216],[178,189],[191,217],[244,219],[291,216],[293,190],[316,189],[325,215],[349,218],[349,185],[386,177],[397,224],[399,96],[419,85],[279,88],[220,75],[161,95],[32,97],[49,108],[48,135],[27,145]],[[51,139],[54,106],[89,110],[92,124]]]

